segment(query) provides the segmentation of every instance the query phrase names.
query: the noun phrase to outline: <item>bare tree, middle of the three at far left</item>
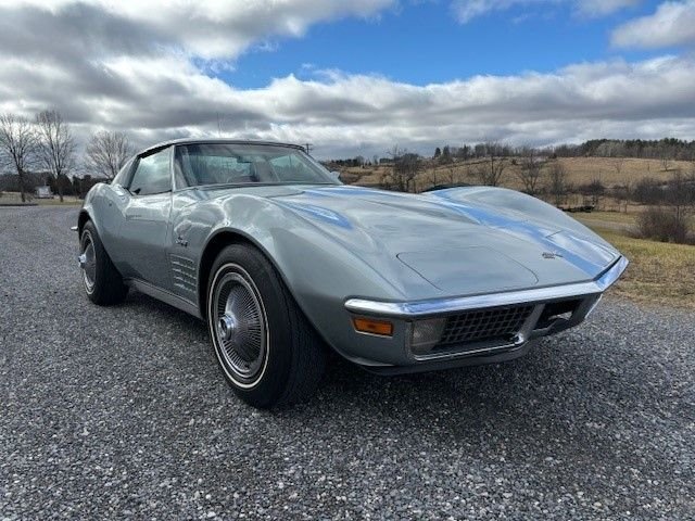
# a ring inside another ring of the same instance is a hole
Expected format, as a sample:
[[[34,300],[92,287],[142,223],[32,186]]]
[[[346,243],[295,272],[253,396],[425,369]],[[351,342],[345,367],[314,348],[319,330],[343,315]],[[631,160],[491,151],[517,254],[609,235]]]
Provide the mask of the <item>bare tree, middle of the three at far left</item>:
[[[58,194],[63,191],[75,166],[75,138],[60,112],[42,111],[36,115],[38,160],[55,177]]]

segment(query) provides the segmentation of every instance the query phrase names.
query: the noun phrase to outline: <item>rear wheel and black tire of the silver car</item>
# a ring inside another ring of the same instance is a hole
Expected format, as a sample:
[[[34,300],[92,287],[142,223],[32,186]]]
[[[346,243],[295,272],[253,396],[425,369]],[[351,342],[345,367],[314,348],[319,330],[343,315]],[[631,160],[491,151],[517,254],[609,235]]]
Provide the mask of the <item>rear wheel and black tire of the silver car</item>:
[[[100,306],[123,302],[128,294],[128,287],[123,283],[91,220],[85,224],[79,236],[79,253],[86,256],[83,285],[89,300]]]

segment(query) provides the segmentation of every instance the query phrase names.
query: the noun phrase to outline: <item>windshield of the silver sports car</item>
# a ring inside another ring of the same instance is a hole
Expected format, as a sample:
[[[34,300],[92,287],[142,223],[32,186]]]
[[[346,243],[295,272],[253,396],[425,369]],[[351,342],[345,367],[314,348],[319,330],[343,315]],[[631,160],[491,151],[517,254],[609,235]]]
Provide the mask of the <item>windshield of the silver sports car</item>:
[[[193,143],[176,147],[178,188],[204,185],[337,185],[299,149],[269,144]]]

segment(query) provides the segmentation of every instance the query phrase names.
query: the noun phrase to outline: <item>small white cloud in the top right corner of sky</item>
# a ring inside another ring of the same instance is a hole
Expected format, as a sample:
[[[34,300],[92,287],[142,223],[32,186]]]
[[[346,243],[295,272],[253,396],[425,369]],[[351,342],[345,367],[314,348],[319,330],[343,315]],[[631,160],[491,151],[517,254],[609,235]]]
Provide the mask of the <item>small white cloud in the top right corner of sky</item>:
[[[616,47],[656,49],[695,43],[695,0],[665,2],[656,12],[618,27]]]

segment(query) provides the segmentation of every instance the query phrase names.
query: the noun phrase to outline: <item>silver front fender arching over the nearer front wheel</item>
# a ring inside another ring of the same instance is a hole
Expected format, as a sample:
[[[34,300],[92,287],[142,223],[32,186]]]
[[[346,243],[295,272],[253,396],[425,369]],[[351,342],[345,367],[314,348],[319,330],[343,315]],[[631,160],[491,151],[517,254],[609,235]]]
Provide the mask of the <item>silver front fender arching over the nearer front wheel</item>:
[[[354,344],[346,300],[406,297],[378,267],[271,199],[239,194],[181,206],[173,223],[174,237],[185,237],[188,253],[197,257],[199,295],[206,291],[202,287],[208,275],[202,272],[207,269],[205,252],[220,233],[237,236],[264,253],[316,331],[344,355],[343,346],[351,344],[352,351]],[[408,269],[402,263],[393,264]],[[431,291],[431,284],[425,280],[422,284]],[[200,307],[204,308],[203,302]]]

